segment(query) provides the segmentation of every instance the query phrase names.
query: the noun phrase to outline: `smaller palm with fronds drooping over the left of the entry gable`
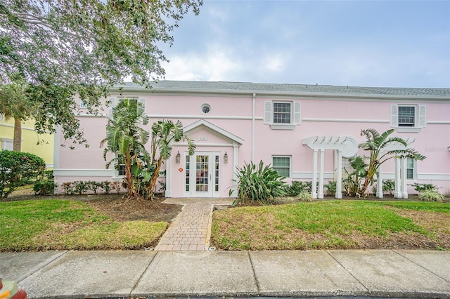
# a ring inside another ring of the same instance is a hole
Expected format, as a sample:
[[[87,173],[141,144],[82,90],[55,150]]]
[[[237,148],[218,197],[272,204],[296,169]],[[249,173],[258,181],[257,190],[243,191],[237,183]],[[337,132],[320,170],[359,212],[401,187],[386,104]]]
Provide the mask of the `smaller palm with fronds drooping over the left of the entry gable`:
[[[150,179],[150,185],[148,187],[150,192],[155,188],[162,162],[169,159],[172,154],[172,142],[179,142],[181,140],[188,142],[189,155],[193,155],[195,152],[195,144],[191,138],[188,138],[183,133],[183,124],[181,124],[181,121],[176,121],[176,124],[174,124],[172,121],[162,120],[153,124],[150,150],[152,154],[151,164],[155,167],[155,172]],[[157,154],[159,154],[158,158]]]

